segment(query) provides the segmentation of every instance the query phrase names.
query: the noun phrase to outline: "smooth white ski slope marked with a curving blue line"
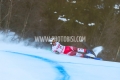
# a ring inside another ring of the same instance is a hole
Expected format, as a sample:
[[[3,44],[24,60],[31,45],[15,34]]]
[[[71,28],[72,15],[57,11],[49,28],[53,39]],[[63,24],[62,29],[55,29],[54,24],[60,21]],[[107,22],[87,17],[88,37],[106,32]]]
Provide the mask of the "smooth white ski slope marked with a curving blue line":
[[[0,46],[0,80],[120,80],[117,62],[58,55],[5,42],[3,35]]]

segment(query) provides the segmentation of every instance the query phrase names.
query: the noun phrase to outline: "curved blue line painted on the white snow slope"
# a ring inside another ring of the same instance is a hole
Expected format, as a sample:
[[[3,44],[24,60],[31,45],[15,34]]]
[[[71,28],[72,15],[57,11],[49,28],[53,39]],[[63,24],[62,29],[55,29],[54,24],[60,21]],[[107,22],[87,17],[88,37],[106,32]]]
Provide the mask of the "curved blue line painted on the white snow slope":
[[[50,60],[50,59],[46,59],[40,56],[35,56],[35,55],[30,55],[30,54],[24,54],[24,53],[19,53],[19,52],[11,52],[11,51],[5,51],[5,52],[9,52],[9,53],[14,53],[14,54],[19,54],[19,55],[24,55],[24,56],[29,56],[29,57],[33,57],[33,58],[37,58],[37,59],[41,59],[45,62],[48,62],[52,65],[55,66],[55,68],[59,71],[59,73],[61,75],[59,75],[59,77],[57,78],[57,80],[69,80],[70,76],[68,75],[68,73],[65,71],[64,67],[60,64],[58,64],[58,62]]]

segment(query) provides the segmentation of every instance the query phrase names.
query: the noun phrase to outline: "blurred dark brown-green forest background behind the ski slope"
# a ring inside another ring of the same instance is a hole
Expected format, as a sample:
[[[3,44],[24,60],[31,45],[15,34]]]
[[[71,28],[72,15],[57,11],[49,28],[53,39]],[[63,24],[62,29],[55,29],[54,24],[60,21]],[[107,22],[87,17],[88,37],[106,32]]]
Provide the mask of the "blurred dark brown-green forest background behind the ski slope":
[[[0,30],[30,42],[40,35],[86,36],[92,48],[104,47],[104,60],[120,61],[120,0],[0,0]]]

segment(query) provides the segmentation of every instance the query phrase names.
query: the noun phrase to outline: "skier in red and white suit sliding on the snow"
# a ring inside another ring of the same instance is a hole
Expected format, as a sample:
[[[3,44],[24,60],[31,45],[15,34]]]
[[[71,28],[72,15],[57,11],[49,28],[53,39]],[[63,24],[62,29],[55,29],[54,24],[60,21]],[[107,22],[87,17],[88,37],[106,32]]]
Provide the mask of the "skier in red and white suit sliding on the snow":
[[[84,57],[84,58],[94,58],[86,55],[90,53],[90,50],[87,50],[85,48],[77,48],[74,46],[63,46],[59,42],[57,42],[55,38],[49,39],[48,42],[52,44],[52,51],[55,53]]]

